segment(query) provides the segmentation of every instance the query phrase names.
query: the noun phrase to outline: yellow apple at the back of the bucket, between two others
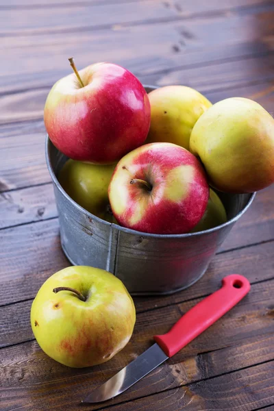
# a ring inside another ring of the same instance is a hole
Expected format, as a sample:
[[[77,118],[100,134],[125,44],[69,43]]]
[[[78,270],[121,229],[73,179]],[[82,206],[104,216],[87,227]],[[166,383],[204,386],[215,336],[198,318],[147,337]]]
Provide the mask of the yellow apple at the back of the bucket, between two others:
[[[212,103],[186,86],[165,86],[149,92],[151,125],[146,143],[173,142],[189,149],[190,133]]]

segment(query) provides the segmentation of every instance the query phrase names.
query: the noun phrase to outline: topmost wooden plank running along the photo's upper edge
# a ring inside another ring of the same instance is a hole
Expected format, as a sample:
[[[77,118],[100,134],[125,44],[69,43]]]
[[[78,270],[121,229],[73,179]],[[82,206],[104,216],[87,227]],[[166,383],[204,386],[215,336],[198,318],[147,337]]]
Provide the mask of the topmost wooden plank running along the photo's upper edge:
[[[198,3],[198,4],[197,4]],[[208,4],[209,3],[209,4]],[[185,20],[204,15],[226,14],[234,10],[239,14],[249,12],[251,8],[264,11],[271,8],[267,0],[235,0],[219,4],[218,0],[201,5],[201,1],[161,1],[142,0],[114,3],[86,2],[54,8],[14,8],[11,11],[2,8],[0,16],[0,36],[9,34],[49,34],[75,32],[83,29],[99,29],[112,25],[139,25],[153,22]],[[229,14],[229,13],[228,13]],[[64,18],[64,15],[66,18]]]

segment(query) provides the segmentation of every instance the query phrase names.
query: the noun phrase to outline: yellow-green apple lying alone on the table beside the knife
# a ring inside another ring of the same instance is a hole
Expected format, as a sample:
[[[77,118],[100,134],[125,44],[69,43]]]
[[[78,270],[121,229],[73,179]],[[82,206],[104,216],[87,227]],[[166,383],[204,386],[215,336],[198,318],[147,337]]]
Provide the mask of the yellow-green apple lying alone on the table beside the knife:
[[[53,360],[85,367],[110,360],[132,336],[136,313],[120,279],[71,266],[42,284],[31,309],[34,336]]]

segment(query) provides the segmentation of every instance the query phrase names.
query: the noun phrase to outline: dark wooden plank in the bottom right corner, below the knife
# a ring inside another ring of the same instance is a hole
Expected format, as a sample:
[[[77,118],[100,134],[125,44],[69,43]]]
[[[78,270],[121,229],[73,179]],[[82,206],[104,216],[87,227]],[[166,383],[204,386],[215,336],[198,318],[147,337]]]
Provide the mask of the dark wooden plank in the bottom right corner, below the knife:
[[[253,411],[273,403],[273,362],[122,403],[112,411]],[[61,408],[57,408],[57,410]],[[95,410],[96,408],[91,408]],[[97,408],[99,409],[99,408]]]

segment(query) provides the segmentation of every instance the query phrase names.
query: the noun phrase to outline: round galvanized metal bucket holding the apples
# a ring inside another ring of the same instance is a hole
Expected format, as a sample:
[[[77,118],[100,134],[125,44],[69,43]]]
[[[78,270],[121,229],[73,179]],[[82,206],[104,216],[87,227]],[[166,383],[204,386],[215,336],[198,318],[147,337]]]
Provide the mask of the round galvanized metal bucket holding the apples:
[[[145,86],[147,92],[155,87]],[[218,192],[227,223],[193,234],[159,235],[108,223],[79,206],[56,175],[68,160],[49,137],[46,160],[53,181],[61,244],[73,265],[95,266],[119,277],[132,295],[166,295],[187,288],[206,272],[216,250],[251,205],[255,193]]]

